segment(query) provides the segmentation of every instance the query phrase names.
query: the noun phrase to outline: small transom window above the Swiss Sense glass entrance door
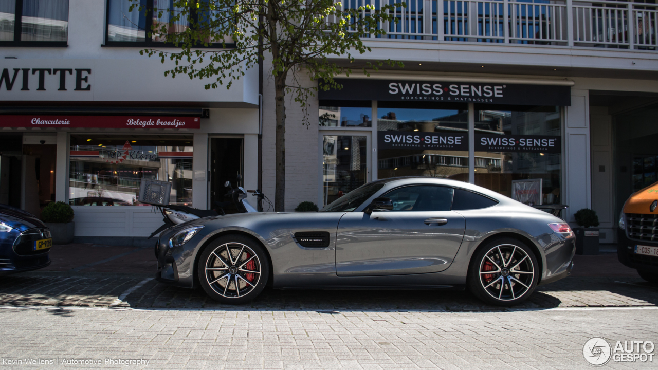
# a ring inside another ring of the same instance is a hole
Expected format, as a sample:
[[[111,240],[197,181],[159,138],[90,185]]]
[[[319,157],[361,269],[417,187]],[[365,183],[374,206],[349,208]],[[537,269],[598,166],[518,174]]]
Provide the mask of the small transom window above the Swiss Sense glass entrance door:
[[[372,103],[370,101],[322,101],[318,113],[322,127],[370,127]]]

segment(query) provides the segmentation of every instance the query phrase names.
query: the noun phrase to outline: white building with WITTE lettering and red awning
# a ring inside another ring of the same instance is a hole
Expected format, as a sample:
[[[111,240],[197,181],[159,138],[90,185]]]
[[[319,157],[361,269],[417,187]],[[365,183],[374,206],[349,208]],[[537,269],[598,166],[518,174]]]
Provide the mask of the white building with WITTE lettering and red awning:
[[[79,242],[130,244],[159,227],[162,215],[139,206],[144,179],[172,182],[170,203],[201,209],[223,201],[238,175],[257,188],[257,68],[231,90],[165,77],[172,64],[139,50],[168,49],[143,31],[166,20],[129,8],[11,0],[0,9],[0,203],[36,215],[69,203]]]

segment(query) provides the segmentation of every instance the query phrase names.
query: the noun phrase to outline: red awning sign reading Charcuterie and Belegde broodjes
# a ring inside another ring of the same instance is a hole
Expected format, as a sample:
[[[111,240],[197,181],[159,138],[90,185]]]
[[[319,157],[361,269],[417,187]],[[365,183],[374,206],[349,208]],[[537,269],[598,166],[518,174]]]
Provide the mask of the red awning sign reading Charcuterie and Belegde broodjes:
[[[199,128],[199,117],[0,116],[0,127]]]

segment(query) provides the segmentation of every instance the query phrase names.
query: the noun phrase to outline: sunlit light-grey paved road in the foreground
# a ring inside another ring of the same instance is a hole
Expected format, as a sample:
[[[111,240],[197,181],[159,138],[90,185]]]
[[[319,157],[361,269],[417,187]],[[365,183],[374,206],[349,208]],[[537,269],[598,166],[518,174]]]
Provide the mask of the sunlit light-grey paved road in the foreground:
[[[658,343],[656,307],[461,313],[3,307],[0,317],[0,363],[16,369],[588,369],[583,345],[592,336],[613,347],[618,340]],[[34,360],[41,365],[28,364]],[[126,360],[143,362],[122,366]],[[603,368],[655,369],[653,361],[610,361]]]

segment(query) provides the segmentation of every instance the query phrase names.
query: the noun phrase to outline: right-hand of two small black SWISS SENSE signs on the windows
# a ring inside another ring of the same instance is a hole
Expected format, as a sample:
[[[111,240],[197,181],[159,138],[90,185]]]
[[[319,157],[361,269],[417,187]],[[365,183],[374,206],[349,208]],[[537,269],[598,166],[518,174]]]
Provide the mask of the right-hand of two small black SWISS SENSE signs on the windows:
[[[475,134],[475,151],[561,153],[559,136]]]

